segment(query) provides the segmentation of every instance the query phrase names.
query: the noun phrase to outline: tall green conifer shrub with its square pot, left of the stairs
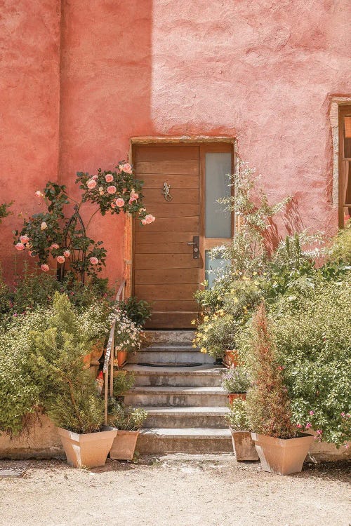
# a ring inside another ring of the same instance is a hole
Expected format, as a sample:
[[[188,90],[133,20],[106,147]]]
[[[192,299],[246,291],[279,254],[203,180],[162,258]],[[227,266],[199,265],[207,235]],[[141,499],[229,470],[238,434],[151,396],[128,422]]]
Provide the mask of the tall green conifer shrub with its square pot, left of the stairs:
[[[86,334],[67,295],[55,292],[48,329],[29,334],[32,375],[48,416],[58,426],[71,466],[105,464],[117,429],[104,427],[104,403],[84,368]]]

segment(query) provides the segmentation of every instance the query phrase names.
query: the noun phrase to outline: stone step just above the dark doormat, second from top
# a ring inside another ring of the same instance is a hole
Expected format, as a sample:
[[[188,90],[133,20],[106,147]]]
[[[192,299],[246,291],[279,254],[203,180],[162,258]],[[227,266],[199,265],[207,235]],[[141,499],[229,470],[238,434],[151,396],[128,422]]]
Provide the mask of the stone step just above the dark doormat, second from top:
[[[128,363],[208,363],[213,358],[189,345],[152,345],[128,355]]]

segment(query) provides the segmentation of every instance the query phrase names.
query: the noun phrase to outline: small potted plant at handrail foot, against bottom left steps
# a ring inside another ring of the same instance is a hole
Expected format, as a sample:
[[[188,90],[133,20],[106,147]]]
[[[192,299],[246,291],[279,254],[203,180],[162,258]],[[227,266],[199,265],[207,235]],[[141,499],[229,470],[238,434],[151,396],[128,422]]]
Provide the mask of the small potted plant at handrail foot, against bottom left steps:
[[[117,427],[118,433],[114,438],[110,457],[117,460],[132,460],[140,428],[147,419],[147,412],[141,407],[135,409],[110,399],[110,422]]]

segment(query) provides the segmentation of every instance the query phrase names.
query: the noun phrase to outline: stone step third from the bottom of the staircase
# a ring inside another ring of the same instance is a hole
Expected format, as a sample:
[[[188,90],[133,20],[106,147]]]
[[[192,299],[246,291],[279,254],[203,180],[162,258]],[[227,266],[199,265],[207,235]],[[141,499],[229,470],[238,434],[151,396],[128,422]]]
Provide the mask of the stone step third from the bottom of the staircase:
[[[135,386],[124,397],[126,405],[171,405],[225,407],[227,393],[222,387]]]

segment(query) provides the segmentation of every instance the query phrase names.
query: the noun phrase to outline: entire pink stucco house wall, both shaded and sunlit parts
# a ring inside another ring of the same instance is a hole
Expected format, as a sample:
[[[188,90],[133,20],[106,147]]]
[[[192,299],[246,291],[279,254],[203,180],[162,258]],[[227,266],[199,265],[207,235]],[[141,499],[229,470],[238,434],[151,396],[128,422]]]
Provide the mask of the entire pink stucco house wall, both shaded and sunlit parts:
[[[31,211],[49,177],[75,191],[77,170],[112,168],[132,136],[229,135],[272,199],[296,196],[300,225],[335,229],[329,105],[351,95],[348,0],[62,0],[61,20],[55,0],[4,6],[0,201]],[[123,229],[91,229],[113,280]]]

